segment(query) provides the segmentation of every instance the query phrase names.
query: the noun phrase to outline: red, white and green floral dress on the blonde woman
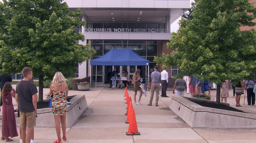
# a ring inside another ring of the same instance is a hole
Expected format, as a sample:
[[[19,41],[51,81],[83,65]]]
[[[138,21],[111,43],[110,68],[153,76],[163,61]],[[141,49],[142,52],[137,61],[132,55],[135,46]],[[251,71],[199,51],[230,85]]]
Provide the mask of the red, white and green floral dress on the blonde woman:
[[[66,84],[67,87],[67,84]],[[55,90],[53,88],[52,111],[53,115],[66,115],[67,113],[67,98],[66,90]]]

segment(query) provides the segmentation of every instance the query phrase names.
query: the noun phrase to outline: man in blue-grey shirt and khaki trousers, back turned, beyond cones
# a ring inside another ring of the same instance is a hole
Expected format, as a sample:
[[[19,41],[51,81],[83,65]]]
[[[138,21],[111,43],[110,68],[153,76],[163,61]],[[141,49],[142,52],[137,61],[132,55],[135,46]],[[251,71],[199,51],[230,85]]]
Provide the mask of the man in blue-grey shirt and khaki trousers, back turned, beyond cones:
[[[150,103],[148,106],[152,106],[152,101],[154,97],[154,92],[156,91],[156,106],[158,106],[159,100],[159,90],[160,90],[160,82],[161,82],[161,74],[158,72],[158,66],[154,67],[154,72],[151,73],[151,95],[150,95]]]

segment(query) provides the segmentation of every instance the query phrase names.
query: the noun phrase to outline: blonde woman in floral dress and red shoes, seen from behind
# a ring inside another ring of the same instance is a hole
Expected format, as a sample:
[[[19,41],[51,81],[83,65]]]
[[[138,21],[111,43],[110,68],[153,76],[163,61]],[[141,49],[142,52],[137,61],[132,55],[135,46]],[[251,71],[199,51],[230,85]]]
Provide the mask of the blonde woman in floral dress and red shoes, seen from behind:
[[[66,113],[67,113],[67,97],[68,97],[68,85],[65,77],[61,72],[56,72],[52,85],[50,87],[50,95],[53,94],[52,111],[55,121],[55,129],[58,140],[54,143],[61,143],[60,137],[60,123],[62,128],[62,140],[66,141]]]

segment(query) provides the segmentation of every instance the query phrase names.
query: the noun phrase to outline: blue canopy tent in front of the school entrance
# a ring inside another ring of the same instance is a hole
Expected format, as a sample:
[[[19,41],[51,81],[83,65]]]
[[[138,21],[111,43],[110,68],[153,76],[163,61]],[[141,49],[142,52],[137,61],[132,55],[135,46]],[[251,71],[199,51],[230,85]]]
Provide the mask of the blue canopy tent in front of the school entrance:
[[[109,52],[105,53],[103,56],[93,59],[90,61],[90,65],[108,65],[108,66],[138,66],[145,65],[148,66],[149,75],[149,61],[142,58],[140,55],[132,51],[130,48],[127,49],[111,49]],[[90,70],[91,71],[91,70]],[[97,66],[96,66],[97,71]],[[90,74],[91,75],[91,74]],[[90,78],[91,81],[91,78]],[[97,82],[97,72],[96,72],[96,82]],[[148,88],[149,76],[147,76],[147,88]],[[96,85],[95,85],[96,87]]]

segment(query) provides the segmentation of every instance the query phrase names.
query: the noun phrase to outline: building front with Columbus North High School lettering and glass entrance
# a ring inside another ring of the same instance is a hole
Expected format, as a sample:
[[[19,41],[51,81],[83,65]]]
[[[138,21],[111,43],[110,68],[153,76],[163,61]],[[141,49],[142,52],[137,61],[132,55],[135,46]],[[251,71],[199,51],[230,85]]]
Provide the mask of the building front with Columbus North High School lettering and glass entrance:
[[[77,32],[82,32],[85,41],[97,51],[92,59],[101,57],[112,48],[130,48],[141,57],[150,61],[150,75],[156,63],[154,56],[170,53],[167,42],[171,39],[171,23],[190,7],[190,0],[64,0],[71,11],[81,9],[81,20],[86,25]],[[136,69],[141,69],[141,76],[146,81],[147,66],[96,66],[91,67],[90,60],[79,66],[78,77],[92,76],[95,83],[109,83],[111,73],[117,68],[118,76],[126,68],[130,77]],[[161,71],[160,67],[160,71]],[[177,67],[167,69],[169,87],[173,87],[173,75],[179,72]]]

